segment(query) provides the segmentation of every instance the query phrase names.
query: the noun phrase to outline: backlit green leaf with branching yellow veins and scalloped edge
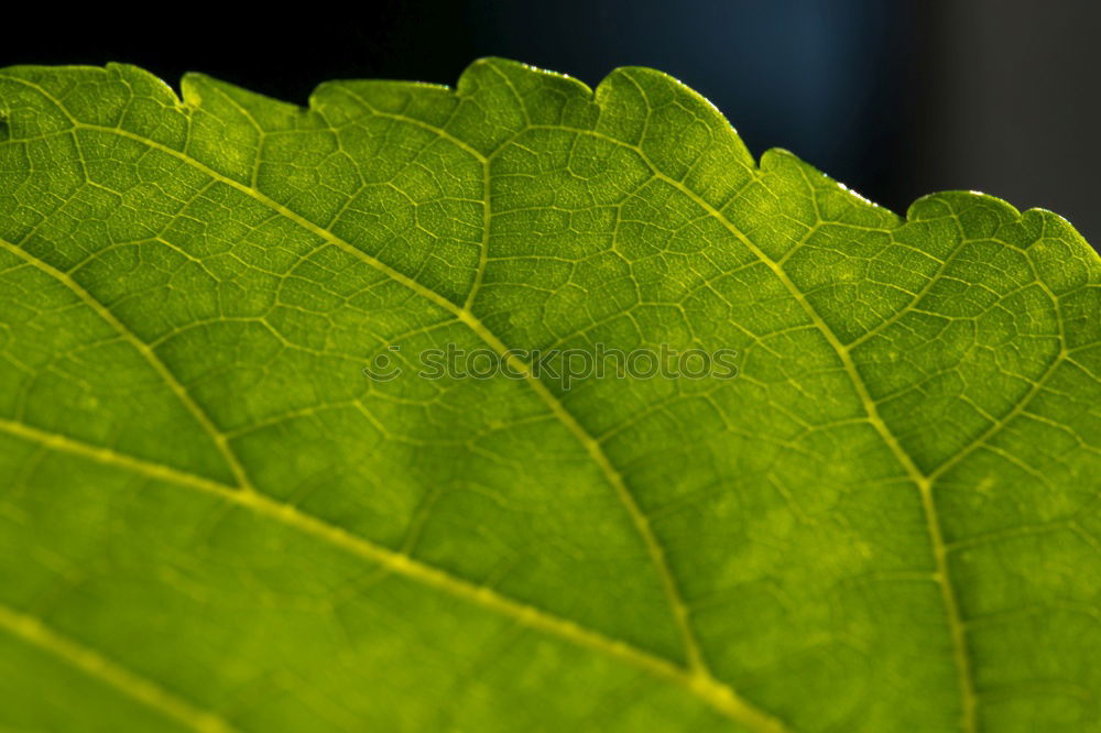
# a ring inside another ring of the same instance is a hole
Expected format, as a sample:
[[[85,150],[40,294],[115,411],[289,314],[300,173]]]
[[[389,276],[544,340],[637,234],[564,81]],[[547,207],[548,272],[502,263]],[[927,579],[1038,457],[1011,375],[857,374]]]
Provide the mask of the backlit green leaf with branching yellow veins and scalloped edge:
[[[4,730],[1101,731],[1066,221],[643,68],[182,88],[0,72]]]

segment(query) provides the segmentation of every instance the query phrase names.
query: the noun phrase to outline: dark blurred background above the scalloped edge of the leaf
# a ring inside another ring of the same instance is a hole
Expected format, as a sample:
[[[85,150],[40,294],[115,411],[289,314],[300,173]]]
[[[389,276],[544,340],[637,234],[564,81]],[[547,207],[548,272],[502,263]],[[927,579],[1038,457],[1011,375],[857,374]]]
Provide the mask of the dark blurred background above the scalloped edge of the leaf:
[[[488,55],[589,85],[615,66],[652,66],[715,102],[755,155],[786,147],[895,211],[970,188],[1058,211],[1101,244],[1097,0],[226,2],[42,14],[0,21],[0,66],[121,61],[173,85],[198,70],[298,103],[330,78],[454,84]]]

